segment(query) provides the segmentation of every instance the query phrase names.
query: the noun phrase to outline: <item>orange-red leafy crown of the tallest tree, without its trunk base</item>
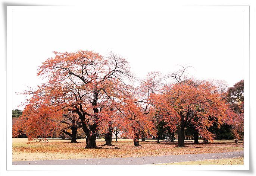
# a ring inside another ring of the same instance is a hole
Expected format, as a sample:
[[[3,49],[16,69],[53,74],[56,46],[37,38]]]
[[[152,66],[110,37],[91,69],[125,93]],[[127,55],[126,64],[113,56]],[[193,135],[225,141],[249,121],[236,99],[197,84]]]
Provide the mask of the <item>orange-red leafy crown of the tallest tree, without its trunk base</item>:
[[[128,62],[113,53],[108,57],[82,50],[54,54],[38,70],[38,76],[46,76],[47,83],[27,92],[32,95],[26,106],[29,137],[50,135],[54,129],[63,128],[54,122],[62,121],[67,111],[77,113],[87,135],[106,131],[110,122],[119,124],[118,107],[129,98],[125,80],[132,75]]]

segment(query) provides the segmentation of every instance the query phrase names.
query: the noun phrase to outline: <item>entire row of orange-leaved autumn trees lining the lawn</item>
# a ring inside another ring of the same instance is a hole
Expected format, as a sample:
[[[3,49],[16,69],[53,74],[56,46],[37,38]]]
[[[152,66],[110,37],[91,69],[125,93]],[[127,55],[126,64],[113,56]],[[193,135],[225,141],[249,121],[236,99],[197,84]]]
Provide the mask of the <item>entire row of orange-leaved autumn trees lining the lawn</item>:
[[[242,124],[237,121],[243,118],[243,101],[235,96],[243,95],[229,89],[232,95],[227,100],[223,81],[188,78],[188,67],[182,67],[166,76],[151,72],[135,87],[137,79],[119,55],[103,57],[82,50],[54,54],[38,70],[38,76],[47,82],[25,92],[31,98],[13,125],[13,137],[26,132],[32,140],[62,131],[75,142],[81,128],[86,135],[85,148],[98,148],[99,134],[105,134],[106,145],[112,145],[112,134],[118,131],[139,146],[139,139],[159,136],[161,124],[172,134],[178,132],[178,147],[184,146],[188,126],[212,140],[210,127],[235,124],[233,131],[241,136],[237,129]]]

